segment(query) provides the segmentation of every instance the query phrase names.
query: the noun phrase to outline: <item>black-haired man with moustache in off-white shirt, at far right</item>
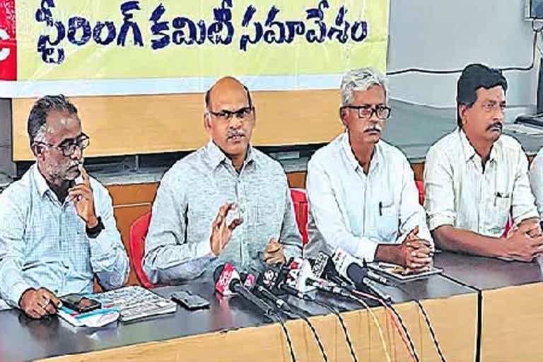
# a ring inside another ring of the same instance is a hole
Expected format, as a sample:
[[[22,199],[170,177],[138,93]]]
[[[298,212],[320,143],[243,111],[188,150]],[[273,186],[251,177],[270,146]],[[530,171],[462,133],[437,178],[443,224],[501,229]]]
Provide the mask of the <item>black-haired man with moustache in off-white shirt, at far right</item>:
[[[470,64],[457,83],[458,128],[431,146],[428,224],[443,249],[528,262],[543,252],[539,216],[518,141],[502,135],[507,81]],[[503,235],[512,216],[515,226]]]

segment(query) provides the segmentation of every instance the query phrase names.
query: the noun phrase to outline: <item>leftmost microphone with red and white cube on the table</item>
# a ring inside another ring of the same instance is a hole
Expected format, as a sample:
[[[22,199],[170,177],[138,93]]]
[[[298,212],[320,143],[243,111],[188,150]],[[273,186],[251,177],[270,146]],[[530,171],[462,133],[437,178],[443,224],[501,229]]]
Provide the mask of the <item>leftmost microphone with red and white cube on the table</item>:
[[[222,296],[231,296],[238,294],[248,302],[262,310],[264,315],[271,315],[273,309],[263,300],[251,293],[241,283],[240,274],[234,269],[232,264],[226,263],[219,265],[214,271],[215,289]]]

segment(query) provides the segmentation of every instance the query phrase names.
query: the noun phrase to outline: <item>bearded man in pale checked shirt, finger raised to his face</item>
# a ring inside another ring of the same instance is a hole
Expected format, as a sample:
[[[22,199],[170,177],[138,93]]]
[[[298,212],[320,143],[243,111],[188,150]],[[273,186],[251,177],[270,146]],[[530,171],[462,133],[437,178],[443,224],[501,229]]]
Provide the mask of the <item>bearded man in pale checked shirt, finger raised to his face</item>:
[[[0,194],[0,298],[40,318],[56,312],[57,296],[92,293],[94,275],[122,286],[129,262],[111,198],[83,168],[89,138],[76,107],[40,98],[28,136],[36,163]]]

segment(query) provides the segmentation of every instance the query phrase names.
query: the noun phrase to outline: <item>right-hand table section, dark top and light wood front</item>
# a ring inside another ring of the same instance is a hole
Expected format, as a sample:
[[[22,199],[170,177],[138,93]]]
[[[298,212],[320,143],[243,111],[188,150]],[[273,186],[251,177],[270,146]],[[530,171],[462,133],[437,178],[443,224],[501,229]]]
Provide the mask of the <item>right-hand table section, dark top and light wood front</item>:
[[[542,361],[543,260],[505,262],[441,252],[444,274],[479,291],[480,361]]]

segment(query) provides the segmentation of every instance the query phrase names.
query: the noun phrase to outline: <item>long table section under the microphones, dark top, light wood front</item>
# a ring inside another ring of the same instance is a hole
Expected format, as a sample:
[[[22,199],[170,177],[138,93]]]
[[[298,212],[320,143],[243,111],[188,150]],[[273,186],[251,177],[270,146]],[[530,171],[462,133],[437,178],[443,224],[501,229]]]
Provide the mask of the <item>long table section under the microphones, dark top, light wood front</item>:
[[[230,300],[213,293],[209,283],[190,288],[211,301],[209,310],[188,312],[178,308],[173,315],[139,322],[119,323],[103,329],[76,329],[57,317],[29,320],[18,310],[0,312],[0,361],[290,361],[281,327],[267,320],[239,298]],[[177,287],[158,288],[168,296]],[[473,361],[477,334],[477,293],[443,278],[412,281],[403,288],[424,299],[424,307],[436,329],[448,361]],[[402,315],[421,361],[438,361],[424,320],[410,296],[388,288]],[[337,305],[344,316],[360,361],[384,361],[377,329],[366,310],[349,300],[336,300],[317,293],[317,298]],[[351,361],[341,328],[334,315],[317,305],[293,300],[308,310],[320,334],[329,361]],[[387,348],[396,361],[409,361],[407,352],[383,308],[372,308],[385,332]],[[301,320],[289,320],[288,331],[298,361],[322,361],[313,334]],[[457,334],[462,328],[465,332]],[[279,347],[279,348],[278,348]],[[55,358],[56,357],[56,358]]]

